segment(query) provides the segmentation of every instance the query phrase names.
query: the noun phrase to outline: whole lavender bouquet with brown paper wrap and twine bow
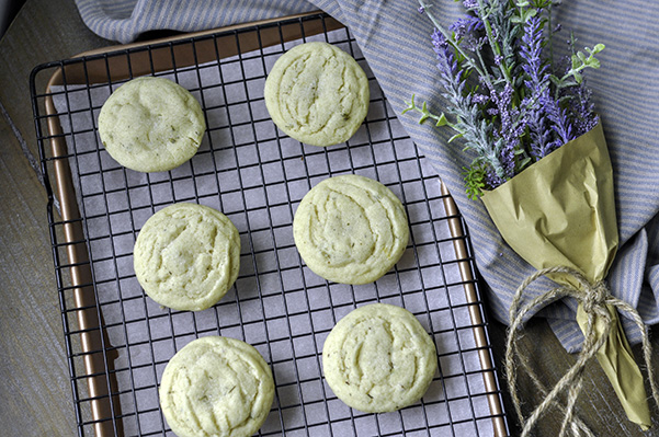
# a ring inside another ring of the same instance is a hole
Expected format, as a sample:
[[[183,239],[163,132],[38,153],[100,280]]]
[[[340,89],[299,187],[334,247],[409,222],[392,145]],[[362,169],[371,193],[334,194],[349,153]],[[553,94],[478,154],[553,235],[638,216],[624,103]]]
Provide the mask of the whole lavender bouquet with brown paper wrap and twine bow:
[[[604,46],[580,51],[570,36],[570,55],[555,56],[560,26],[553,21],[558,5],[553,0],[464,0],[465,15],[447,28],[435,19],[436,5],[420,4],[435,26],[432,45],[448,103],[438,114],[412,96],[404,113],[418,112],[419,123],[455,131],[448,147],[461,142],[471,157],[464,172],[467,195],[482,200],[503,240],[537,268],[515,292],[507,344],[505,370],[522,435],[552,406],[565,413],[560,435],[589,435],[572,410],[583,368],[595,356],[628,417],[648,428],[643,375],[616,309],[632,314],[643,333],[645,325],[603,281],[618,244],[613,171],[584,73],[600,67],[595,56]],[[559,287],[522,304],[525,287],[539,276]],[[566,297],[579,302],[577,322],[586,340],[575,366],[549,391],[525,360],[514,363],[515,335],[531,311]],[[644,352],[648,364],[645,335]],[[515,391],[518,367],[546,394],[527,421]],[[648,373],[658,400],[650,365]],[[569,391],[565,406],[558,402],[561,391]]]

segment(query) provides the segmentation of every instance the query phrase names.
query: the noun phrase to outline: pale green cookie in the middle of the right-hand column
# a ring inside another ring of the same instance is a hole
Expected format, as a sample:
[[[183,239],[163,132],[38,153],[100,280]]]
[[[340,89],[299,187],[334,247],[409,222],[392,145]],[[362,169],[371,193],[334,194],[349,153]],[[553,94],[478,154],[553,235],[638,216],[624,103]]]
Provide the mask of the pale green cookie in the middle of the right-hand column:
[[[409,228],[402,204],[389,188],[349,174],[329,177],[304,196],[293,237],[314,273],[357,285],[378,279],[400,260]]]

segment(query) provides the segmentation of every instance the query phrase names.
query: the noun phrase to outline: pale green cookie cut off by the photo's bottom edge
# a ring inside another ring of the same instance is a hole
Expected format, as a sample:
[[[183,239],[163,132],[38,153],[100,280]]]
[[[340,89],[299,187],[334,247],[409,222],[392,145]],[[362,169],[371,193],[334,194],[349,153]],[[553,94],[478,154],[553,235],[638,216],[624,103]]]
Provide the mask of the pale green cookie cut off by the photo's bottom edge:
[[[251,345],[195,340],[167,364],[159,389],[167,423],[179,437],[249,437],[274,398],[272,371]]]

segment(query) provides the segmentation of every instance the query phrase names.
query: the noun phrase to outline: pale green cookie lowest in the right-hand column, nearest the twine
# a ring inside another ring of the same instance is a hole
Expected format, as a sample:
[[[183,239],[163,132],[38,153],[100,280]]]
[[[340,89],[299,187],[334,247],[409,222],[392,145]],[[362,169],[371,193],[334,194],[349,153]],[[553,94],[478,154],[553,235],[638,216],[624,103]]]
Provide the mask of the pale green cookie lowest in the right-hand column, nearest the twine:
[[[327,383],[349,406],[385,413],[417,402],[438,369],[434,344],[414,315],[373,303],[350,312],[322,347]]]

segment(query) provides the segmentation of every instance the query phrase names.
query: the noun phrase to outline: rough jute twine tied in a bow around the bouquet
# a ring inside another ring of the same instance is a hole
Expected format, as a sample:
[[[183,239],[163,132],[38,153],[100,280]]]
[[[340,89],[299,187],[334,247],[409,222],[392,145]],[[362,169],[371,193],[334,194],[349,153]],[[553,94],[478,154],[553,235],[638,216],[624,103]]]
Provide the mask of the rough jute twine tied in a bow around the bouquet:
[[[560,273],[570,275],[579,285],[580,289],[569,287],[558,287],[546,294],[533,299],[531,302],[521,306],[522,295],[524,289],[534,280],[542,276],[546,276],[553,273]],[[518,348],[516,338],[521,334],[520,327],[524,324],[524,315],[527,314],[534,308],[542,308],[548,303],[552,303],[558,299],[566,297],[572,297],[577,299],[583,306],[586,314],[588,314],[588,321],[584,333],[583,347],[577,358],[577,361],[570,367],[566,375],[560,378],[556,386],[548,391],[543,383],[539,381],[535,372],[533,371],[529,357],[522,355]],[[508,329],[507,347],[505,347],[505,372],[508,376],[508,388],[510,390],[512,401],[515,407],[515,412],[522,424],[522,437],[531,436],[531,430],[537,424],[538,419],[552,407],[558,409],[563,417],[563,424],[560,427],[560,434],[558,437],[571,435],[571,436],[588,436],[594,437],[594,434],[590,428],[575,415],[575,404],[581,387],[583,383],[583,370],[589,361],[595,358],[598,350],[604,345],[609,333],[611,331],[611,313],[606,309],[606,304],[611,304],[616,309],[626,312],[634,323],[638,326],[643,337],[643,355],[645,359],[646,369],[648,372],[648,379],[650,388],[652,390],[652,398],[659,405],[659,390],[655,381],[655,373],[651,366],[651,346],[648,338],[647,327],[643,322],[643,319],[638,314],[638,311],[627,302],[617,299],[609,292],[609,289],[604,281],[598,284],[591,284],[581,273],[568,268],[568,267],[552,267],[537,271],[533,275],[529,276],[524,283],[518,288],[512,306],[510,308],[510,326]],[[604,321],[605,331],[600,338],[595,338],[594,323],[595,317]],[[519,363],[518,363],[519,361]],[[518,373],[524,372],[529,376],[535,388],[543,394],[544,401],[531,413],[529,418],[524,418],[522,414],[521,404],[522,401],[518,394],[516,381]],[[567,400],[565,405],[559,401],[559,396],[567,392]]]

